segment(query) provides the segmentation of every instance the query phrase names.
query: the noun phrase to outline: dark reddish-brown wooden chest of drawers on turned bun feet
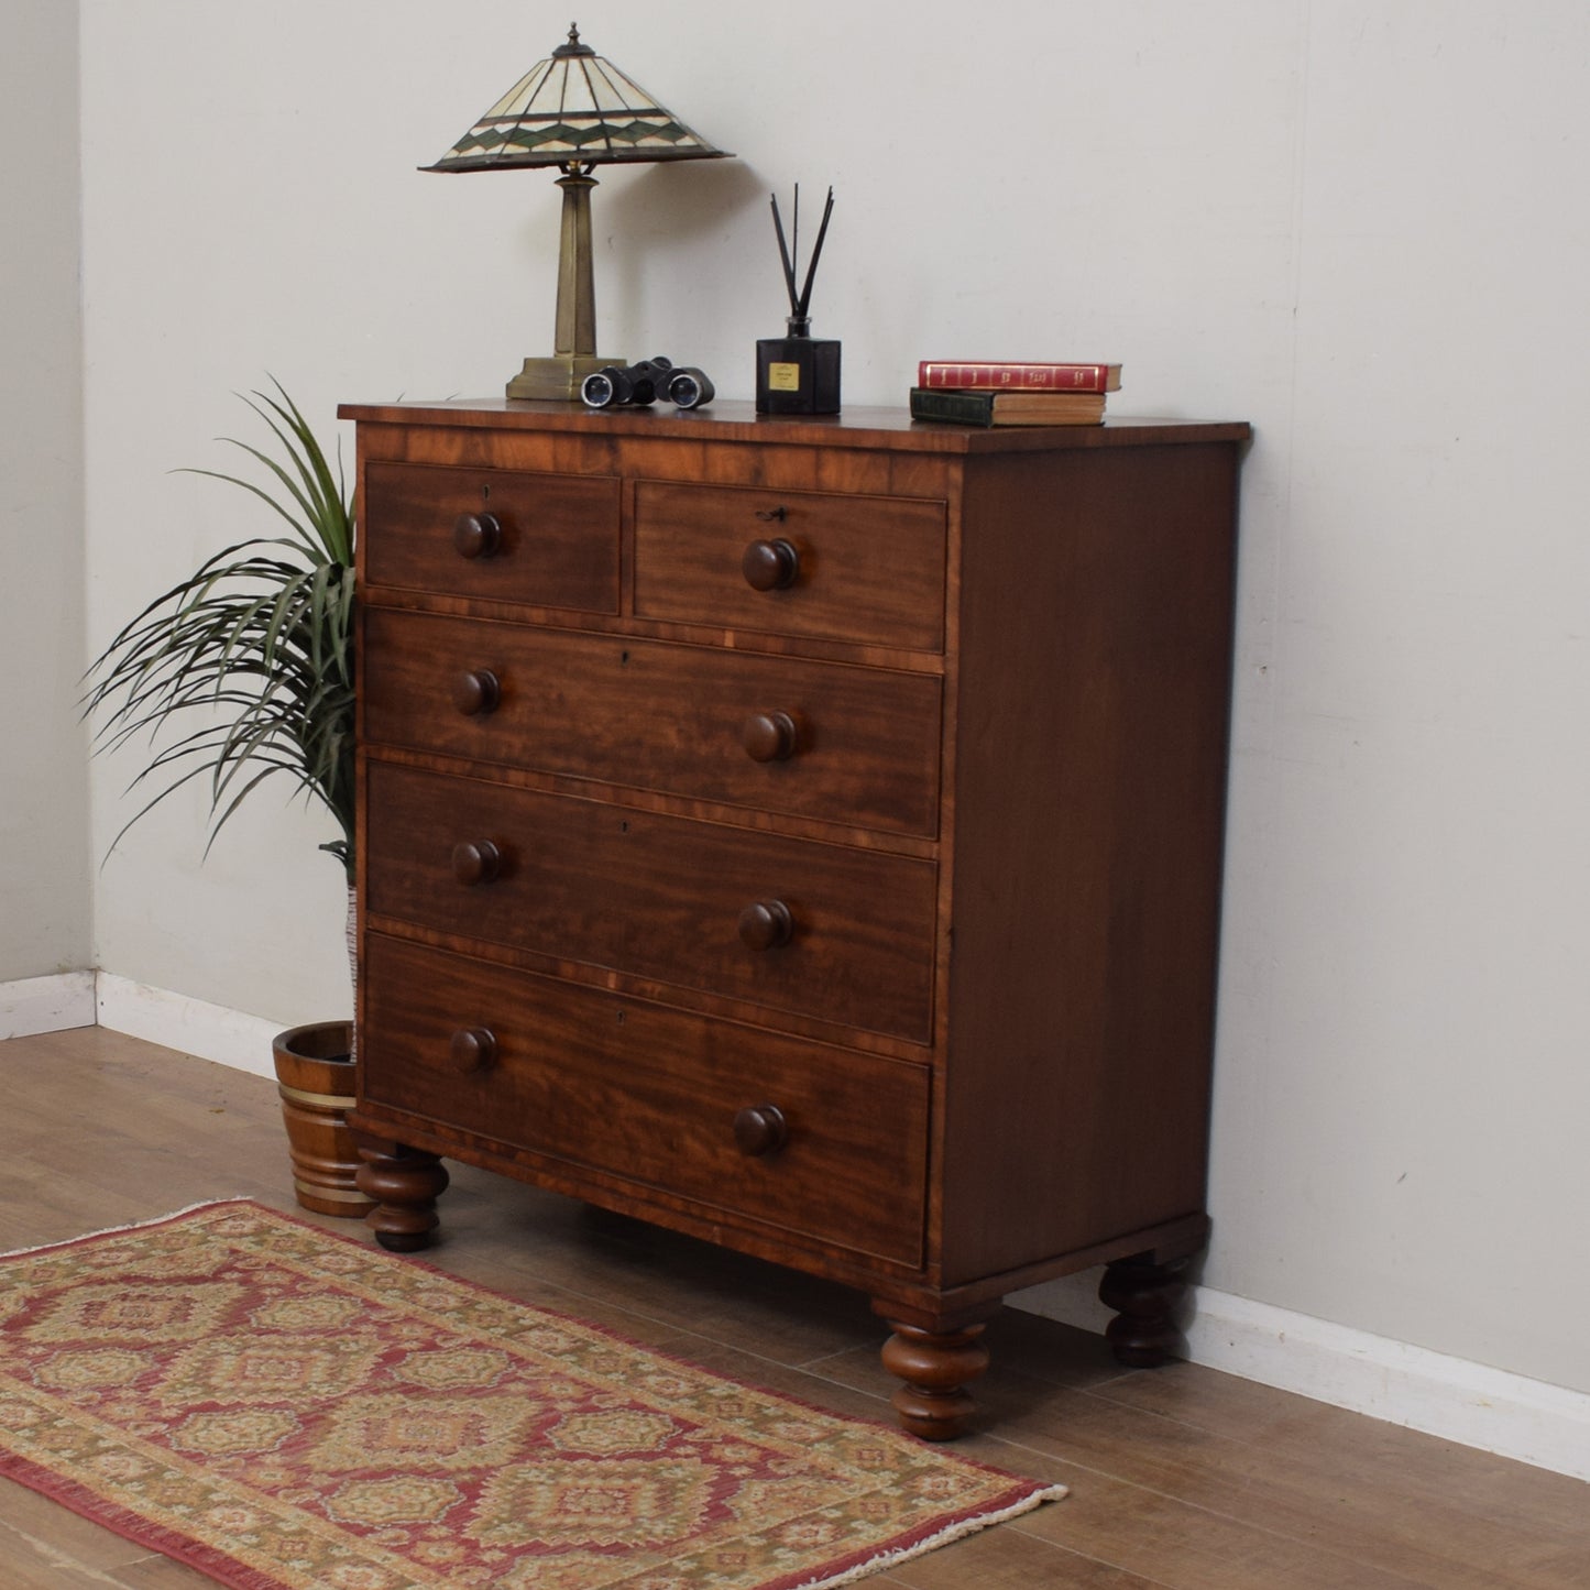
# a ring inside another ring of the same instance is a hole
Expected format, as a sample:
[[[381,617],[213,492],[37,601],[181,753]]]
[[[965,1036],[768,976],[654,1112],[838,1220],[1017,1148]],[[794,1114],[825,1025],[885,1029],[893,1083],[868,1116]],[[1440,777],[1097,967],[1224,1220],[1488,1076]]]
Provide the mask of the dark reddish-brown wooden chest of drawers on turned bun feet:
[[[843,1280],[930,1437],[1013,1288],[1162,1358],[1247,426],[343,417],[380,1240],[448,1156]]]

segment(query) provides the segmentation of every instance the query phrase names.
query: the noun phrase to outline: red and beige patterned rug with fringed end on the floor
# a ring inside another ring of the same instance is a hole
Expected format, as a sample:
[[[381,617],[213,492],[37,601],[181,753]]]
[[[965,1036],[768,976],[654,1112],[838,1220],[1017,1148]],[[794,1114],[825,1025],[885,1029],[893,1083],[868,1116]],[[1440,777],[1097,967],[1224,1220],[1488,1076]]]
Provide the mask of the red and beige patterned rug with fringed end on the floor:
[[[0,1472],[243,1590],[797,1590],[1049,1498],[251,1202],[0,1261]]]

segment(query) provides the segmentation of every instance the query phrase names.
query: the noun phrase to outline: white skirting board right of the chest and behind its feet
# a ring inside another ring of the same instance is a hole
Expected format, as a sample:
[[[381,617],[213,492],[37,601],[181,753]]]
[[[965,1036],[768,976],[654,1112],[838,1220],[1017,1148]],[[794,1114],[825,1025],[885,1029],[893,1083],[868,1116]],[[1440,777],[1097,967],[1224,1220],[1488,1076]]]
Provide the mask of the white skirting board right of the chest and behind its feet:
[[[1076,1275],[1008,1299],[1097,1331],[1099,1277]],[[1590,1479],[1590,1394],[1371,1336],[1329,1320],[1199,1286],[1188,1358],[1464,1447]]]

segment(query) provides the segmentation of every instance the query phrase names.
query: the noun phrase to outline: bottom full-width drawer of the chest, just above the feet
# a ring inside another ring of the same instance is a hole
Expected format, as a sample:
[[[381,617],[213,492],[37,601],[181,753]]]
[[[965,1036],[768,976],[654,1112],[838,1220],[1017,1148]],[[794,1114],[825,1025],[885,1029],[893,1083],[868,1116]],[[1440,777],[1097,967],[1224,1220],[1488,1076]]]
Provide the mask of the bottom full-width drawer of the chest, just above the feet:
[[[361,1099],[921,1264],[929,1073],[370,933]],[[743,1111],[773,1105],[778,1123]],[[736,1121],[755,1148],[736,1143]]]

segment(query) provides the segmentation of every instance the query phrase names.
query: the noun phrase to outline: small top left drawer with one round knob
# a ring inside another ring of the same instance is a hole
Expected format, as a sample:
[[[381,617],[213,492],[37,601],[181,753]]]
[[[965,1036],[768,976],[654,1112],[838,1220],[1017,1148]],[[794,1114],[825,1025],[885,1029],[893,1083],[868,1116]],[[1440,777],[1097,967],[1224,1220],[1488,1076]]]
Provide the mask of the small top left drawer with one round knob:
[[[619,480],[372,463],[359,528],[370,585],[619,611]]]

